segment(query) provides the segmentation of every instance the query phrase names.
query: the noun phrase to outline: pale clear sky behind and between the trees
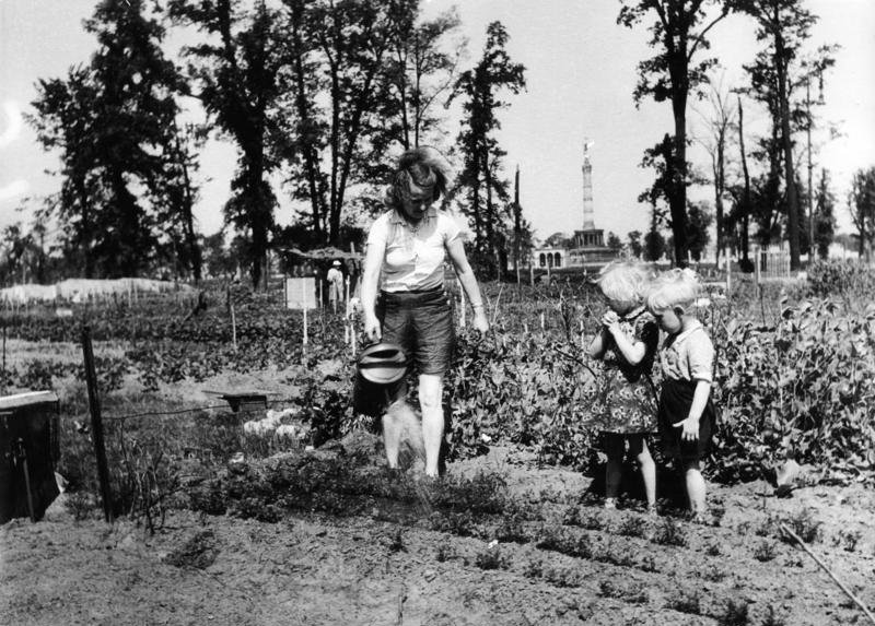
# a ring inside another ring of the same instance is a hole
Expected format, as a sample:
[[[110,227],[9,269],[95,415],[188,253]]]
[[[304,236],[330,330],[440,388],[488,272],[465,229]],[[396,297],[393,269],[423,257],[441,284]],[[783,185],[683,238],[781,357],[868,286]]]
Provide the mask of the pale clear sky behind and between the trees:
[[[125,1],[125,0],[118,0]],[[94,39],[82,29],[94,0],[0,0],[0,227],[30,218],[42,197],[60,188],[57,154],[37,144],[33,130],[21,120],[31,111],[37,79],[63,75],[71,64],[86,62]],[[826,105],[819,107],[821,130],[815,132],[816,172],[829,169],[839,199],[839,229],[852,232],[847,198],[854,170],[875,166],[875,2],[872,0],[808,0],[805,5],[820,21],[812,46],[841,44],[826,80]],[[583,225],[582,153],[593,143],[593,194],[596,227],[625,237],[646,231],[649,208],[637,201],[653,174],[639,167],[643,151],[673,130],[670,105],[644,101],[635,107],[632,92],[637,64],[650,56],[643,26],[616,24],[619,0],[423,0],[425,15],[455,7],[468,39],[469,67],[482,50],[487,25],[500,21],[510,35],[511,59],[526,67],[527,88],[509,96],[501,111],[500,143],[508,152],[505,170],[521,170],[521,203],[536,235],[572,233]],[[725,87],[743,84],[742,63],[749,62],[757,44],[750,22],[733,16],[718,24],[710,40],[721,62],[715,75]],[[176,34],[174,45],[184,44]],[[702,135],[704,104],[691,102],[688,130]],[[445,120],[446,142],[458,133],[454,110]],[[766,122],[754,105],[745,108],[746,128]],[[829,139],[827,127],[839,137]],[[803,138],[797,138],[802,140]],[[805,153],[801,152],[802,157]],[[734,155],[731,155],[734,156]],[[690,161],[709,167],[701,147]],[[233,144],[212,140],[201,152],[199,229],[217,232],[221,206],[230,190],[236,162]],[[281,191],[280,191],[281,194]],[[691,190],[693,200],[710,200],[710,188]],[[19,206],[25,211],[15,211]],[[288,223],[291,209],[277,213]]]

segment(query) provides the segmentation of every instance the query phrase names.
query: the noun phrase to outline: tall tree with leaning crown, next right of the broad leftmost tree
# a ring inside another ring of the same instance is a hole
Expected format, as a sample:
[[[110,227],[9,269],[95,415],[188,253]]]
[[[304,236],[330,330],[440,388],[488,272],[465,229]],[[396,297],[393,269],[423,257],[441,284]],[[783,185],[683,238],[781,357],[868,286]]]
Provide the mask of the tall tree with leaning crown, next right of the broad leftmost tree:
[[[183,48],[183,55],[190,60],[188,74],[198,87],[195,95],[240,149],[224,213],[225,220],[250,239],[245,260],[253,285],[258,286],[277,205],[267,176],[278,165],[269,135],[278,128],[277,75],[284,60],[276,12],[269,11],[264,0],[252,9],[249,4],[243,0],[171,0],[167,9],[174,23],[194,26],[208,36],[205,43]]]

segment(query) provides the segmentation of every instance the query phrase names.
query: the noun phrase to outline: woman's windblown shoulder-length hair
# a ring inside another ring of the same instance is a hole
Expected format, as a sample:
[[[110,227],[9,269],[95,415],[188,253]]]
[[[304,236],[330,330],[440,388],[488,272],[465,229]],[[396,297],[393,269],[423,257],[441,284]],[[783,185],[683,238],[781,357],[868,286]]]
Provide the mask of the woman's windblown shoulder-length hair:
[[[429,191],[432,200],[438,200],[446,194],[452,181],[453,169],[443,154],[428,145],[415,147],[398,157],[384,202],[390,209],[400,209],[402,200]]]

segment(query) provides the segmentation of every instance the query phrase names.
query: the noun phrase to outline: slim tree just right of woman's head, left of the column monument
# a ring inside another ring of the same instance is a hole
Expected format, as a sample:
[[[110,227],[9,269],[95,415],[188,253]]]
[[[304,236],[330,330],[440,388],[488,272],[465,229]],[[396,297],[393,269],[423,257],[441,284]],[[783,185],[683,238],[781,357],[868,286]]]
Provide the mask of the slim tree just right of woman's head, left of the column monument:
[[[509,35],[500,22],[487,27],[487,40],[477,64],[462,73],[455,94],[463,103],[463,130],[458,137],[464,166],[457,188],[465,190],[463,214],[474,229],[475,258],[492,259],[499,247],[497,234],[509,218],[500,208],[508,206],[508,182],[501,179],[501,158],[495,131],[501,128],[497,113],[509,105],[499,98],[502,91],[518,94],[525,88],[525,67],[513,63],[505,46]],[[498,274],[500,263],[497,263]]]

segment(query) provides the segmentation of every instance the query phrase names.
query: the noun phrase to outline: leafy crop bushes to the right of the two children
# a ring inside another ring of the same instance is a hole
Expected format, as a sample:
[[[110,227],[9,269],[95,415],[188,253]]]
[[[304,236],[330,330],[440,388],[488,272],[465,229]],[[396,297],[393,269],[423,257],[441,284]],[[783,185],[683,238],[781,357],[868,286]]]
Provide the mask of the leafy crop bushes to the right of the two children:
[[[795,459],[872,479],[875,306],[859,316],[833,300],[783,304],[774,328],[714,324],[716,477],[760,477]]]

